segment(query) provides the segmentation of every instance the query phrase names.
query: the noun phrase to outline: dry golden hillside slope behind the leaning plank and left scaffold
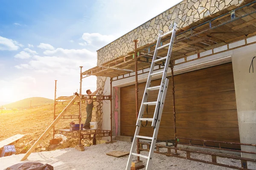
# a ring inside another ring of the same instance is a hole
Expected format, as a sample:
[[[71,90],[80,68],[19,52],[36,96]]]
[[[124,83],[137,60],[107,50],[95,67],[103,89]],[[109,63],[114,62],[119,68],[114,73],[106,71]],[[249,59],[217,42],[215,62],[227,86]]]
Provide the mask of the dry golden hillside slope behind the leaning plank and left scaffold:
[[[56,105],[56,115],[58,115],[66,106]],[[82,122],[86,119],[86,104],[82,105]],[[0,141],[9,138],[16,134],[25,135],[15,144],[17,154],[26,153],[27,150],[35,143],[35,141],[44,133],[53,121],[54,104],[44,105],[41,107],[18,110],[12,113],[5,113],[0,115]],[[73,105],[65,115],[79,115],[79,105]],[[78,119],[61,119],[55,129],[69,129],[70,122],[74,121],[78,124]],[[92,121],[96,121],[95,109],[93,109]],[[78,144],[78,139],[67,137],[62,144],[50,145],[49,141],[52,139],[53,130],[46,138],[38,145],[35,152],[50,151],[56,149],[63,149],[68,147],[75,147]],[[90,146],[92,141],[83,140],[82,144]]]

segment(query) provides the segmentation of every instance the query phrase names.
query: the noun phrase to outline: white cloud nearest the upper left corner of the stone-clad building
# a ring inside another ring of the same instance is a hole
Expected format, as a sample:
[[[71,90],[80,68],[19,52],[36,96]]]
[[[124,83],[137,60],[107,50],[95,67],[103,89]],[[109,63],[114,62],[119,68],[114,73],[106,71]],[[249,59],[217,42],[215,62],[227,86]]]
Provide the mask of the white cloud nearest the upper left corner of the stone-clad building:
[[[84,33],[82,35],[82,39],[85,41],[84,43],[79,43],[81,46],[94,46],[97,48],[101,48],[102,46],[111,43],[111,41],[115,40],[116,37],[113,35],[101,35],[99,33]]]

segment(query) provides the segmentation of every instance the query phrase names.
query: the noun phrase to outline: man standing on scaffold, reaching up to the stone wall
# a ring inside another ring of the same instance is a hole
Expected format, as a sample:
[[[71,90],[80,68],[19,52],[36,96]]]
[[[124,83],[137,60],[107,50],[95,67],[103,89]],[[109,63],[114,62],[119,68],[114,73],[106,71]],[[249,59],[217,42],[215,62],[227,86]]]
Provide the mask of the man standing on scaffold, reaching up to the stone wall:
[[[86,112],[87,112],[87,117],[85,120],[85,124],[84,124],[84,129],[90,129],[90,121],[92,120],[92,112],[93,112],[93,95],[96,95],[96,93],[100,90],[96,89],[95,92],[91,92],[90,89],[86,90],[87,95],[91,95],[87,100],[87,106],[86,106]]]

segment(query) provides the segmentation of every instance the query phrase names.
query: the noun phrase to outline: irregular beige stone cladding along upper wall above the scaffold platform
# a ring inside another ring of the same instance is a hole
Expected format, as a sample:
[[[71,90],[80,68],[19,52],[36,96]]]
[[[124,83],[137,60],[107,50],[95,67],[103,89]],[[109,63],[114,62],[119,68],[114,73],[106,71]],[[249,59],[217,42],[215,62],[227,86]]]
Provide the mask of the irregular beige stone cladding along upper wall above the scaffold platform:
[[[168,32],[172,23],[177,23],[178,28],[183,28],[208,15],[242,2],[242,0],[183,0],[176,6],[99,49],[97,51],[97,65],[101,66],[102,63],[134,51],[133,40],[135,39],[138,40],[139,47],[152,43],[157,40],[158,30]]]

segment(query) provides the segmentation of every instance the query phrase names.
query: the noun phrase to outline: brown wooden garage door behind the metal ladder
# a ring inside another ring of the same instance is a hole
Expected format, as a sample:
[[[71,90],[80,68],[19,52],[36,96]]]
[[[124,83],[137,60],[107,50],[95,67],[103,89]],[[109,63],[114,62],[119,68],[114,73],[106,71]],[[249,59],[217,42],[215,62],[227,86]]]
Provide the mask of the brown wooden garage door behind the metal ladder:
[[[240,142],[232,63],[176,75],[174,79],[178,137]],[[151,86],[157,85],[160,80],[152,81]],[[145,83],[139,84],[139,106],[144,89]],[[157,93],[150,91],[148,101],[156,101]],[[154,106],[149,106],[144,118],[152,118],[153,114]],[[135,85],[122,87],[121,135],[134,136],[135,124]],[[140,132],[151,136],[151,122]],[[172,84],[169,83],[157,139],[173,139],[173,132]]]

